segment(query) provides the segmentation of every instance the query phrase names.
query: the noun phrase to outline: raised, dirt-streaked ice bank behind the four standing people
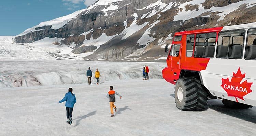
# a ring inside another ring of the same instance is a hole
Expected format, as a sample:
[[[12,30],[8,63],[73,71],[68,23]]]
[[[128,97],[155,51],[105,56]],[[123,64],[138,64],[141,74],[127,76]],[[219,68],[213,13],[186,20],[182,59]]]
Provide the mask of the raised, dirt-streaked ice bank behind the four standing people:
[[[151,78],[162,78],[166,63],[100,62],[79,60],[0,60],[0,88],[86,83],[88,67],[100,71],[100,81],[143,78],[143,66]],[[96,81],[92,78],[93,82]]]

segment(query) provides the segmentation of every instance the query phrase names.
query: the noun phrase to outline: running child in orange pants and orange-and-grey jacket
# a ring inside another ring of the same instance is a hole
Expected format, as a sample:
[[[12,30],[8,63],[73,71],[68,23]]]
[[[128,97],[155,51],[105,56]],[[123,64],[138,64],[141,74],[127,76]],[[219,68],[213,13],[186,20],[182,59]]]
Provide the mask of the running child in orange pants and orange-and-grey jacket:
[[[110,89],[110,91],[107,94],[107,98],[109,98],[109,104],[110,104],[110,111],[111,111],[110,117],[114,117],[113,108],[115,109],[115,112],[117,111],[117,108],[114,105],[114,102],[116,101],[116,95],[118,95],[120,97],[120,99],[122,98],[122,96],[118,92],[115,92],[113,90],[113,86],[110,86],[109,89]]]

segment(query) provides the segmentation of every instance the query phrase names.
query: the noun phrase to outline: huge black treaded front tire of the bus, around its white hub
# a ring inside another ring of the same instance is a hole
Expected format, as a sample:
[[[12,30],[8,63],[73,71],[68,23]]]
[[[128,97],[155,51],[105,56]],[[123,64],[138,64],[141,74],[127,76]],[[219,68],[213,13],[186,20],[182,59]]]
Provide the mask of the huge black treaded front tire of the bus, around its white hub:
[[[183,90],[183,99],[178,99],[178,89]],[[184,111],[202,111],[207,105],[207,93],[203,90],[201,82],[196,78],[180,78],[175,86],[175,103],[178,109]]]

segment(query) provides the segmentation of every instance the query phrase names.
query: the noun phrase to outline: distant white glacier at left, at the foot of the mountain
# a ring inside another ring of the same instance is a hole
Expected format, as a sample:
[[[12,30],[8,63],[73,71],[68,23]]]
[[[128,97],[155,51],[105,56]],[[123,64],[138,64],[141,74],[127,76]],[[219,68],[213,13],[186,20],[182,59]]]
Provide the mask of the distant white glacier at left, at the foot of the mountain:
[[[90,32],[90,31],[88,31]],[[86,35],[82,33],[81,35]],[[97,49],[100,45],[108,42],[110,39],[115,37],[107,36],[103,33],[98,39],[91,38],[90,40],[85,40],[82,46],[94,45]],[[83,60],[83,57],[93,54],[93,52],[73,54],[71,52],[72,48],[76,46],[74,42],[70,45],[55,45],[53,43],[61,43],[62,38],[49,38],[35,41],[33,43],[27,44],[15,44],[14,36],[0,36],[0,59],[27,59],[27,60],[54,60],[54,59],[78,59]]]

